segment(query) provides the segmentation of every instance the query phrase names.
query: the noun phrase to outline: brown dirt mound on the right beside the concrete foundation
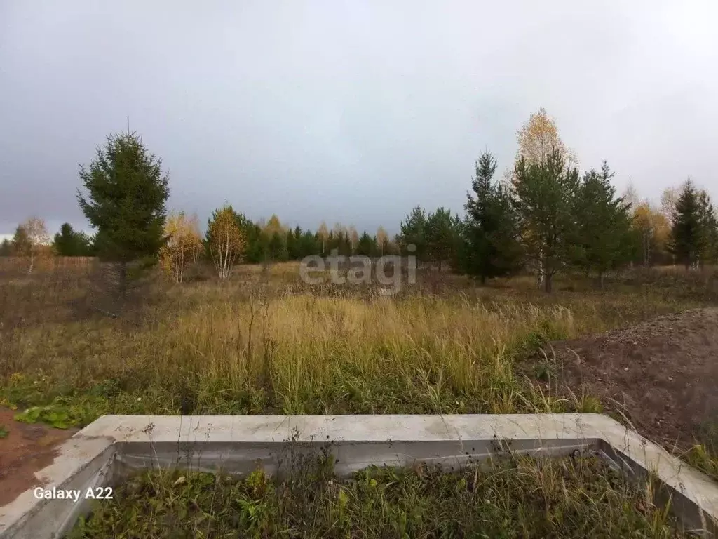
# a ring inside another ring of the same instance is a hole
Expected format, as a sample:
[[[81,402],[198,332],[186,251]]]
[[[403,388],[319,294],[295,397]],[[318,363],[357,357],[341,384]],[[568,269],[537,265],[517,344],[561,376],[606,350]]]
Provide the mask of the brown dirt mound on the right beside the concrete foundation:
[[[552,345],[559,392],[599,397],[650,440],[682,449],[716,431],[718,308]]]

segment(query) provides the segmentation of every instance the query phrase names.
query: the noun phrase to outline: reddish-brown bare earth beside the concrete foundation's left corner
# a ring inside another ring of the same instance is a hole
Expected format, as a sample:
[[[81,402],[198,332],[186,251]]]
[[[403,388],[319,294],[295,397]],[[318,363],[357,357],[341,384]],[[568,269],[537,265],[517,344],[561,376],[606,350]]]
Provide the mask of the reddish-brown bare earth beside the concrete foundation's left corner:
[[[0,438],[0,507],[41,485],[34,473],[52,464],[57,446],[78,431],[27,425],[15,421],[14,415],[12,410],[0,408],[0,425],[8,431]]]

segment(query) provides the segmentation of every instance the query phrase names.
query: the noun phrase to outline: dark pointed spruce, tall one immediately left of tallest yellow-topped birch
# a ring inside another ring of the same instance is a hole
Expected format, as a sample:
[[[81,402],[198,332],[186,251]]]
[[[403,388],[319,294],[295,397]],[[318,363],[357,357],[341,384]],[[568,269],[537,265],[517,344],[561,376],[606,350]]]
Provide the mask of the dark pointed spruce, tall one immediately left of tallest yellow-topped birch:
[[[483,152],[475,163],[475,177],[464,206],[462,269],[484,284],[491,277],[508,275],[520,265],[516,213],[508,192],[493,182],[496,160]]]

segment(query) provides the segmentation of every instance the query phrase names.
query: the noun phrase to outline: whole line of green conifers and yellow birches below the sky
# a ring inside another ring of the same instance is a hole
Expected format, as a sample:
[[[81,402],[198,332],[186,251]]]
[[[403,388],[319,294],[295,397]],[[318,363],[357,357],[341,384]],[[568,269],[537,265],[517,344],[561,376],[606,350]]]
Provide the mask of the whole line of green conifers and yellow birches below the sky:
[[[225,278],[240,262],[332,252],[404,254],[482,282],[531,270],[549,292],[554,275],[565,270],[582,270],[602,282],[607,272],[630,264],[718,263],[717,212],[691,180],[665,190],[660,208],[640,201],[633,188],[618,196],[606,162],[600,170],[579,173],[576,156],[544,109],[519,129],[517,142],[516,159],[503,178],[495,178],[498,164],[490,152],[477,159],[463,215],[417,206],[389,238],[381,226],[370,234],[341,224],[330,229],[324,222],[315,231],[292,229],[276,215],[254,222],[228,204],[213,212],[201,234],[197,216],[167,214],[169,178],[157,157],[136,134],[118,134],[98,149],[89,170],[80,170],[88,195],[78,195],[78,201],[96,233],[66,223],[50,240],[42,219],[31,218],[17,227],[13,240],[0,244],[0,255],[28,259],[30,271],[42,252],[119,264],[159,259],[182,281],[184,267],[202,258]],[[128,162],[144,173],[124,175]]]

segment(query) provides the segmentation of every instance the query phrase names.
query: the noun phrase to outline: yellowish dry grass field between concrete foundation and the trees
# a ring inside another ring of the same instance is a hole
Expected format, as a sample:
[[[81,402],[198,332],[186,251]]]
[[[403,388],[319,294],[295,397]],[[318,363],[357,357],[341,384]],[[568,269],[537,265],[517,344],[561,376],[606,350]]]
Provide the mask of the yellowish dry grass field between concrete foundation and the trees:
[[[676,286],[658,273],[607,290],[559,280],[551,296],[531,277],[475,287],[446,275],[382,298],[370,286],[304,285],[296,264],[277,264],[241,267],[223,284],[155,277],[113,318],[95,277],[1,282],[0,402],[34,407],[24,420],[597,411],[590,396],[543,392],[523,359],[552,339],[714,300],[697,277]]]

